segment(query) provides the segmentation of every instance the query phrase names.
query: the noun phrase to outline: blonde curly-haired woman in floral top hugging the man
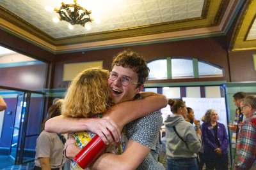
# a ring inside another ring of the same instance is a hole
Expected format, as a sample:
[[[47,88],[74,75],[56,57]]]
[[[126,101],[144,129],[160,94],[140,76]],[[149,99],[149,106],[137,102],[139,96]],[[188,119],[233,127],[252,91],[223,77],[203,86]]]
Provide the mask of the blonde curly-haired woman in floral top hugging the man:
[[[108,115],[122,131],[125,124],[164,107],[166,97],[152,92],[141,93],[142,100],[127,101],[114,106],[108,78],[109,71],[99,68],[86,69],[78,74],[68,87],[61,108],[62,115],[74,118],[102,118],[103,115]],[[145,108],[141,110],[141,106]],[[83,148],[95,134],[85,131],[74,132],[72,136],[76,139],[76,145]],[[125,136],[122,135],[121,143],[108,146],[106,152],[122,153],[125,142]],[[71,166],[72,169],[79,169],[76,162],[72,162]]]

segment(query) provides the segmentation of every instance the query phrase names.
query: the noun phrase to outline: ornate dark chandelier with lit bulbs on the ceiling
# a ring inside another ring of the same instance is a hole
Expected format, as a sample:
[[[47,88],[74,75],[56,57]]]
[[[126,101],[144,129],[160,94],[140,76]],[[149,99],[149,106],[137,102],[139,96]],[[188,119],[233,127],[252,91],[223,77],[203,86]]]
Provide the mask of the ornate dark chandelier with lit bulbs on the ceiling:
[[[61,3],[60,9],[55,8],[54,11],[59,13],[60,20],[65,20],[71,25],[83,25],[87,22],[92,22],[93,18],[90,17],[92,11],[87,11],[85,8],[77,4],[77,1],[74,0],[75,4],[65,4]]]

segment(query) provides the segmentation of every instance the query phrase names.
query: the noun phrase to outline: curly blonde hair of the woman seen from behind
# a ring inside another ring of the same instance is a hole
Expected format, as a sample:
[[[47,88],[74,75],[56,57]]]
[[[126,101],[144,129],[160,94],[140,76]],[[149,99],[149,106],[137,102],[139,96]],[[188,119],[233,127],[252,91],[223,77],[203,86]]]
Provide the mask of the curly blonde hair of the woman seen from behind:
[[[89,68],[79,73],[70,83],[61,108],[67,117],[92,117],[113,106],[108,85],[109,71]]]

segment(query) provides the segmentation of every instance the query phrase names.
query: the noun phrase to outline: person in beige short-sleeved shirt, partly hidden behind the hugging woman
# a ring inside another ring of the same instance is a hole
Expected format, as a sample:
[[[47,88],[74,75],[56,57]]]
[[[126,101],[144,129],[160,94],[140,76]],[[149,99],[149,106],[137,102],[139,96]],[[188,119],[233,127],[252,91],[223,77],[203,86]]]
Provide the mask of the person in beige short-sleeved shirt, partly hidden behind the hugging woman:
[[[61,115],[61,104],[63,100],[59,100],[56,104],[52,105],[49,110],[49,116],[42,124],[42,132],[36,139],[36,155],[34,170],[59,170],[65,163],[63,157],[63,148],[65,138],[61,134],[49,133],[44,130],[45,122],[50,118]]]

